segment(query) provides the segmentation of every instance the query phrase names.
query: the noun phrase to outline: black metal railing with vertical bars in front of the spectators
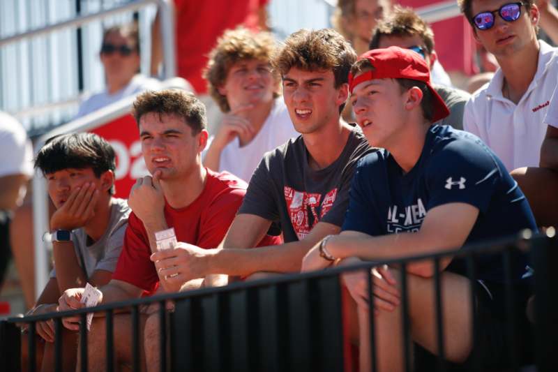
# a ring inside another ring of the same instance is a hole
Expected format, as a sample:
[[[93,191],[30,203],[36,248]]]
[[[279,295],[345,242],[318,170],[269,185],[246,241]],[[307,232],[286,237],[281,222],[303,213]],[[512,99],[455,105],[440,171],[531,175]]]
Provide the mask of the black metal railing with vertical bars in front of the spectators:
[[[412,343],[409,342],[409,287],[408,265],[418,260],[431,260],[435,267],[432,278],[435,286],[435,322],[437,336],[437,357],[429,371],[448,371],[445,360],[444,327],[442,322],[442,278],[437,270],[440,260],[447,257],[462,257],[467,261],[468,275],[472,283],[476,278],[476,258],[479,255],[499,255],[504,264],[504,285],[506,319],[513,320],[516,308],[515,289],[511,283],[513,254],[527,252],[534,269],[534,295],[536,296],[534,339],[524,344],[534,345],[534,359],[539,372],[556,371],[558,362],[558,271],[553,270],[557,260],[558,240],[546,235],[525,236],[518,239],[504,239],[485,244],[467,246],[460,250],[444,251],[431,255],[421,255],[397,260],[379,262],[398,265],[401,276],[401,304],[406,371],[412,371]],[[114,304],[103,304],[96,308],[80,309],[60,313],[33,315],[25,318],[11,318],[0,322],[0,371],[19,371],[22,350],[22,333],[17,323],[29,324],[25,337],[29,338],[29,360],[35,361],[36,330],[38,321],[54,319],[55,324],[55,366],[60,370],[62,360],[61,319],[68,315],[80,315],[80,344],[87,344],[88,333],[85,316],[89,311],[103,312],[106,318],[106,368],[114,369],[114,312],[130,308],[133,345],[133,370],[140,371],[140,348],[143,347],[138,330],[140,306],[158,302],[160,340],[160,371],[343,371],[344,344],[342,327],[342,295],[340,275],[347,271],[365,270],[370,281],[370,262],[353,267],[335,267],[324,271],[305,274],[289,274],[260,281],[232,283],[222,288],[202,288],[190,292],[156,295]],[[475,285],[471,285],[472,299],[476,298]],[[372,281],[369,285],[372,294]],[[165,303],[174,302],[174,311],[167,311]],[[472,301],[473,314],[476,302]],[[483,329],[478,329],[478,320],[473,316],[472,335],[474,345]],[[509,371],[520,371],[525,360],[516,350],[519,338],[530,337],[521,334],[515,323],[506,324],[506,345],[511,367]],[[372,369],[375,370],[375,316],[373,302],[370,302],[370,338]],[[458,337],[460,335],[453,335]],[[525,341],[525,339],[523,340]],[[471,371],[482,371],[477,348],[473,347]],[[346,350],[345,350],[346,351]],[[80,369],[87,370],[87,348],[80,348]],[[30,363],[29,371],[36,371]],[[506,369],[506,371],[508,371]]]

